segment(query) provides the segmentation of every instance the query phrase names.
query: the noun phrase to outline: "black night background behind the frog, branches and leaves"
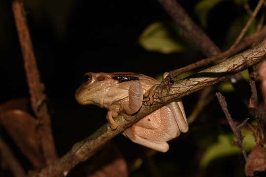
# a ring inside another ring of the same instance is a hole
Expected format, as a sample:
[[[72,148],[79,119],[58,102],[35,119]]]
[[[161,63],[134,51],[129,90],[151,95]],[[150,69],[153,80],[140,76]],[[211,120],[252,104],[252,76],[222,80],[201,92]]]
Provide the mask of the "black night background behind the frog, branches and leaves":
[[[74,99],[75,90],[81,84],[85,72],[131,71],[156,77],[204,56],[197,50],[186,53],[161,54],[148,52],[137,42],[141,32],[158,21],[171,21],[156,0],[25,0],[28,25],[38,63],[41,81],[46,86],[54,138],[58,153],[62,156],[73,143],[82,140],[106,122],[106,110],[97,106],[80,106]],[[194,13],[198,0],[179,0],[179,3],[199,24]],[[250,4],[251,7],[254,4]],[[256,5],[256,3],[255,3]],[[215,6],[208,16],[203,30],[222,49],[229,26],[237,16],[246,13],[230,0]],[[10,0],[0,0],[0,102],[29,96],[23,59],[18,43]],[[199,93],[183,98],[187,115],[196,104]],[[233,93],[230,104],[240,102]],[[214,95],[214,93],[213,93]],[[243,110],[243,108],[240,107]],[[239,116],[239,111],[237,112]],[[244,111],[241,112],[241,114]],[[223,114],[216,99],[200,115],[193,128],[207,126],[213,132],[221,131],[218,119],[210,115]],[[222,130],[223,131],[223,130]],[[195,131],[194,131],[195,132]],[[202,133],[202,134],[200,134]],[[170,144],[169,152],[155,155],[155,163],[169,174],[190,176],[197,169],[198,146],[193,140],[205,136],[204,129],[197,135],[189,132]],[[143,148],[119,135],[113,140],[127,162],[131,162],[138,150]],[[23,158],[23,157],[22,157]],[[231,157],[233,158],[233,157]],[[196,160],[195,160],[196,159]],[[243,165],[241,155],[237,163]],[[240,160],[239,160],[240,159]],[[231,161],[232,159],[226,159]],[[239,162],[240,161],[240,162]],[[145,167],[134,173],[141,174]],[[217,174],[230,173],[228,166],[220,166]],[[212,171],[211,171],[212,172]],[[134,174],[133,173],[133,174]],[[213,175],[210,174],[210,176]]]

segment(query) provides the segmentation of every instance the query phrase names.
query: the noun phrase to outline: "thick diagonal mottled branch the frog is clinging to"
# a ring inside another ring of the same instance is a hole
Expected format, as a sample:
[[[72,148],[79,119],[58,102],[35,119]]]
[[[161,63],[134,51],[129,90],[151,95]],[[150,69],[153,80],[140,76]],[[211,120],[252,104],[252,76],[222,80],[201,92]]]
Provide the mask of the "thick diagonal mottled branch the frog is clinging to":
[[[164,106],[167,103],[176,101],[178,98],[193,93],[199,89],[203,89],[206,86],[218,83],[226,77],[260,62],[265,55],[266,40],[252,49],[242,52],[217,65],[204,69],[189,78],[178,80],[177,83],[171,84],[168,88],[161,87],[161,85],[159,85],[155,89],[153,105],[150,105],[149,98],[144,98],[141,109],[131,118],[130,121],[125,120],[121,116],[115,118],[118,123],[118,128],[114,131],[110,129],[109,123],[104,124],[91,136],[76,143],[62,158],[59,158],[53,164],[45,167],[40,172],[32,173],[31,176],[66,176],[67,173],[78,163],[86,161],[106,142],[152,111]]]

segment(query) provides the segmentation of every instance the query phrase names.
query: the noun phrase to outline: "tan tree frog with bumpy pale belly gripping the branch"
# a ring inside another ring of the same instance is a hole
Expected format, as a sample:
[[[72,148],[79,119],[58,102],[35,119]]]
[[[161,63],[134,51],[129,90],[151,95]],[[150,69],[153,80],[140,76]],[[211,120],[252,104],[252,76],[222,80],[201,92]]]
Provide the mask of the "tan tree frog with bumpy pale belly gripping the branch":
[[[167,73],[164,74],[164,78]],[[160,84],[157,80],[131,72],[85,73],[75,98],[81,105],[95,104],[108,110],[107,120],[112,130],[117,128],[114,117],[124,118],[136,113],[142,106],[143,95]],[[134,143],[166,152],[167,141],[180,132],[188,131],[188,123],[181,99],[152,112],[123,132]]]

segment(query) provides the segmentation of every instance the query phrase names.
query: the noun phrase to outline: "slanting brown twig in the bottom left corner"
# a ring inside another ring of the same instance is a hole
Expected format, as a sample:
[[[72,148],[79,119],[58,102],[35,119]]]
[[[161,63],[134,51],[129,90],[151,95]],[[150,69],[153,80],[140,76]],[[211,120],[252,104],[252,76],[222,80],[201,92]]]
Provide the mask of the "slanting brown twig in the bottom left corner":
[[[23,168],[20,166],[13,152],[5,144],[2,137],[0,137],[0,153],[15,177],[26,177]]]

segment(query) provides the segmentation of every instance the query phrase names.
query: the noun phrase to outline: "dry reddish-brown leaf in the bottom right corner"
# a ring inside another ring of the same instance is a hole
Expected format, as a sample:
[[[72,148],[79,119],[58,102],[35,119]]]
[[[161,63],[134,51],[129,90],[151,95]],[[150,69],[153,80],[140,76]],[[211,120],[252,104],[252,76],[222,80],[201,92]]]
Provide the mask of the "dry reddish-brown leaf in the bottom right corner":
[[[246,161],[245,173],[248,177],[253,177],[255,172],[263,172],[266,170],[266,149],[260,145],[256,145]]]

